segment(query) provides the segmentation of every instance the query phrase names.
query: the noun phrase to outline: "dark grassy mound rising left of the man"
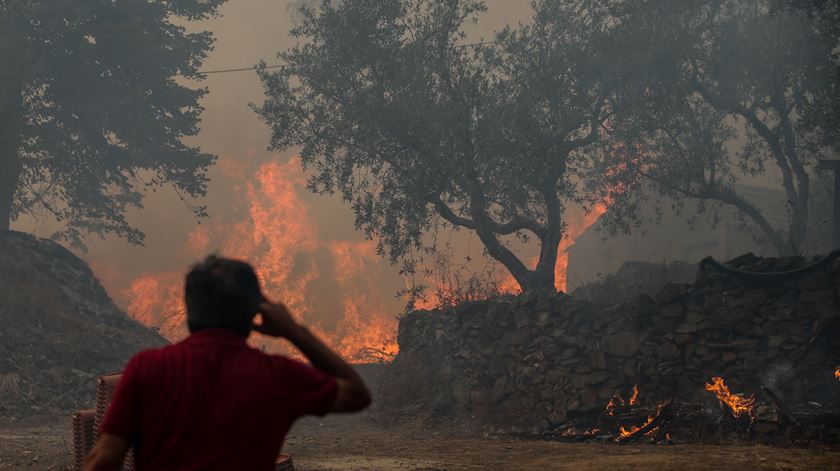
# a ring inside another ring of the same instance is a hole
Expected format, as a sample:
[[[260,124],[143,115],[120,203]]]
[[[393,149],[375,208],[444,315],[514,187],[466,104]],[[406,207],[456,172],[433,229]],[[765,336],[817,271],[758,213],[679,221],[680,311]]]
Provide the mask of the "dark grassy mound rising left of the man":
[[[0,232],[0,420],[89,407],[96,376],[164,343],[67,249]]]

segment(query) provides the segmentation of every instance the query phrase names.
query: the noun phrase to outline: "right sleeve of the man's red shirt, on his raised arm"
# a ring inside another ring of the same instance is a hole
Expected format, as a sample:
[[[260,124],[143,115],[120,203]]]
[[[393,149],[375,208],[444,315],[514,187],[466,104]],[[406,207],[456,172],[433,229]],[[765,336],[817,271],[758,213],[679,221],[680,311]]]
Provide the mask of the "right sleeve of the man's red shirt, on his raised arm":
[[[338,382],[332,376],[289,358],[284,363],[293,415],[323,416],[332,409],[338,394]]]

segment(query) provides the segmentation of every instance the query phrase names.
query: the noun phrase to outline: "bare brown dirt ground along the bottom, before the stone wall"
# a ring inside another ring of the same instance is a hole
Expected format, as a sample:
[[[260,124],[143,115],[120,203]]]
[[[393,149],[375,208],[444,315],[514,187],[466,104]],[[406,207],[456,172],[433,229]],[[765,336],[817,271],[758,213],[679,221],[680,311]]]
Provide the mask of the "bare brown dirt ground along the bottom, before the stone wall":
[[[69,469],[71,446],[69,418],[0,424],[0,470]],[[283,451],[298,471],[840,469],[840,447],[567,444],[383,427],[366,416],[302,420]]]

